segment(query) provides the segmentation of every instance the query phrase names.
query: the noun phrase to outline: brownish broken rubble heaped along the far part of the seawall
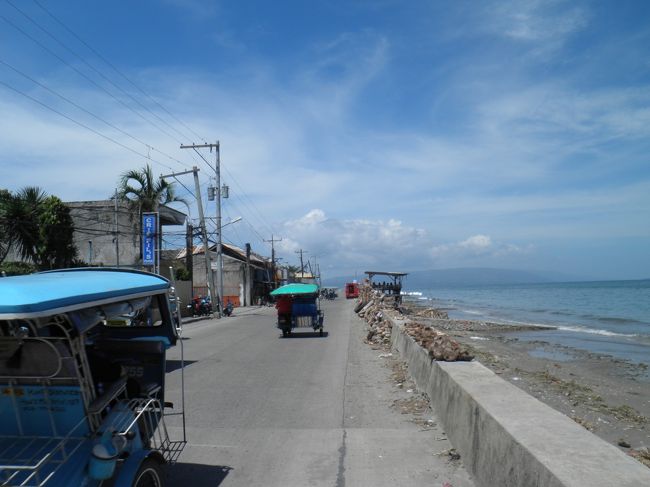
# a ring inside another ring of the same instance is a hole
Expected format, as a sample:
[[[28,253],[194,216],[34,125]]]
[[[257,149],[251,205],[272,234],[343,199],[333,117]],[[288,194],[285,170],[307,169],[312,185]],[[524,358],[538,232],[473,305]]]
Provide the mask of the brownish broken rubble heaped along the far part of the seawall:
[[[366,341],[381,345],[388,345],[391,339],[392,322],[385,319],[386,314],[395,314],[404,317],[398,296],[383,294],[363,284],[359,290],[359,302],[355,311],[359,317],[368,323]],[[448,319],[447,313],[442,310],[428,308],[415,313],[415,316],[428,318]],[[473,356],[469,349],[451,338],[446,333],[422,323],[408,321],[404,330],[415,342],[427,350],[434,360],[445,362],[469,361]]]

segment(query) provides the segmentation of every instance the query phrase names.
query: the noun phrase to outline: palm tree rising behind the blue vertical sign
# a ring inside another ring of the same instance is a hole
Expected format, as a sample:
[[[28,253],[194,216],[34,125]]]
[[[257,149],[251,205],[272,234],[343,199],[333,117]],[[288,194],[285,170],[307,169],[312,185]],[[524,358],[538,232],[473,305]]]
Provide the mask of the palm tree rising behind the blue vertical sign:
[[[132,169],[120,176],[118,197],[126,200],[131,210],[131,220],[138,218],[138,235],[142,238],[142,214],[158,211],[162,205],[173,201],[187,202],[176,196],[174,184],[153,175],[151,166],[147,164],[142,169]],[[160,220],[158,221],[158,239],[162,243]],[[142,246],[140,246],[142,253]]]

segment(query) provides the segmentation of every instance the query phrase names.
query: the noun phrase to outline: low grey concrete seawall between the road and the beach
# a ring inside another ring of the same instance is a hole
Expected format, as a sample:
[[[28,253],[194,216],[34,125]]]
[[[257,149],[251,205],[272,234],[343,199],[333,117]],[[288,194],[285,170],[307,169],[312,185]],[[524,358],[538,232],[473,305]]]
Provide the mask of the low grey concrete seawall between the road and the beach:
[[[386,317],[386,319],[390,319]],[[392,319],[408,364],[481,487],[644,487],[650,469],[481,363],[437,362]]]

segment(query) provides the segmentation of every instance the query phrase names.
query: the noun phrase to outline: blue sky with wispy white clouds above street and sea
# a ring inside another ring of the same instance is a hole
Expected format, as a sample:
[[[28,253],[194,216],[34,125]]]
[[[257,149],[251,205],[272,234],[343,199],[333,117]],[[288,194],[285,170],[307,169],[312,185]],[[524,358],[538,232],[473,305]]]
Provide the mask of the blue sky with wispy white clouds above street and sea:
[[[197,166],[214,215],[219,141],[224,241],[324,277],[650,277],[650,2],[2,0],[0,113],[64,201]]]

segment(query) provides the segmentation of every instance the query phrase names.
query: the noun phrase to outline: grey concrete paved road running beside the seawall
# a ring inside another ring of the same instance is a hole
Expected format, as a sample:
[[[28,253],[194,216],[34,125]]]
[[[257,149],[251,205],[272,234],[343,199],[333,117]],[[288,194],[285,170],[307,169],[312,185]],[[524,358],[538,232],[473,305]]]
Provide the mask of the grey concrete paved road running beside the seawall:
[[[362,343],[353,302],[323,308],[324,337],[282,338],[267,307],[185,326],[188,445],[170,485],[473,485],[462,466],[436,455],[451,447],[442,430],[422,431],[390,407],[409,393]],[[179,357],[175,347],[167,374],[176,404]],[[169,424],[179,435],[178,418]]]

